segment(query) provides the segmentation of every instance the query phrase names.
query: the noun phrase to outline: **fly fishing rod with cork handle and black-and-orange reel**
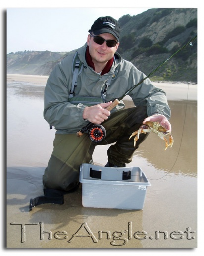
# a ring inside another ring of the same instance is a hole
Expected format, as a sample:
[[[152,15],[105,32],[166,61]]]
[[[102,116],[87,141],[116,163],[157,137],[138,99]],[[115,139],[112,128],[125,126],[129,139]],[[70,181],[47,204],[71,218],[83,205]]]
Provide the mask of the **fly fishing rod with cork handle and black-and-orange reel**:
[[[127,96],[132,90],[134,90],[138,85],[142,84],[147,78],[149,78],[155,71],[157,71],[161,66],[163,66],[167,61],[169,61],[175,54],[180,52],[184,47],[186,47],[188,44],[192,45],[192,41],[194,41],[197,38],[197,35],[193,37],[190,41],[188,41],[185,45],[183,45],[181,48],[179,48],[176,52],[174,52],[168,59],[166,59],[163,63],[161,63],[157,68],[155,68],[149,75],[147,75],[145,78],[143,78],[137,85],[134,85],[132,88],[127,90],[125,94],[123,94],[120,98],[115,99],[111,105],[109,105],[106,109],[112,110],[115,106],[117,106],[120,103],[120,100],[122,100],[125,96]],[[105,128],[100,124],[93,124],[88,123],[87,126],[83,127],[79,132],[76,133],[78,137],[81,137],[85,132],[89,131],[89,138],[94,142],[100,142],[102,141],[106,136]]]

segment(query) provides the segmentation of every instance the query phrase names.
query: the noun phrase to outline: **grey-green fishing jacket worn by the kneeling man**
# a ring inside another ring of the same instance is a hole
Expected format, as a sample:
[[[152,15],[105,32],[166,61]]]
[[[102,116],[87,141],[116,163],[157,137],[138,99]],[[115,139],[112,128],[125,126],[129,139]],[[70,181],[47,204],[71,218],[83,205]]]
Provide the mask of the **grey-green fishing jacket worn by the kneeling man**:
[[[106,102],[113,101],[146,77],[131,62],[122,59],[117,52],[110,71],[101,76],[87,65],[86,47],[85,44],[78,49],[78,58],[83,69],[78,75],[75,96],[101,98],[101,91],[104,89],[106,81],[112,77],[105,100]],[[68,55],[55,66],[45,87],[44,118],[55,127],[58,134],[76,133],[88,123],[82,117],[86,104],[82,102],[74,105],[69,102],[73,79],[73,56],[74,54]],[[170,108],[165,92],[153,86],[149,79],[132,90],[129,96],[135,106],[147,107],[148,116],[160,113],[168,119],[170,118]],[[117,106],[118,110],[122,106],[123,104]]]

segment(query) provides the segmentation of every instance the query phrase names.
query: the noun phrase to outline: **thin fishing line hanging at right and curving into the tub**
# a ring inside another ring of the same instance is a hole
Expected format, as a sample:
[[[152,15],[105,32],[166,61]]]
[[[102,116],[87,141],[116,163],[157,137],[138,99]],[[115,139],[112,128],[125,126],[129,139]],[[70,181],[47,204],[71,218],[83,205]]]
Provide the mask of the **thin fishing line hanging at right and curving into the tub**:
[[[192,45],[192,42],[190,42],[189,45],[192,47],[192,46],[193,46],[193,45]],[[191,56],[191,47],[190,47],[190,50],[189,50],[189,57]],[[190,71],[190,70],[189,70],[189,71]],[[190,72],[188,72],[188,79],[190,80]],[[176,159],[175,159],[175,161],[174,161],[174,164],[173,164],[173,166],[171,167],[171,169],[170,169],[165,175],[163,175],[162,177],[157,178],[157,179],[152,179],[152,178],[148,178],[148,177],[147,177],[149,180],[154,180],[154,181],[156,181],[156,180],[159,180],[159,179],[163,179],[165,176],[167,176],[167,175],[173,170],[173,168],[174,168],[174,166],[175,166],[175,164],[176,164],[176,162],[177,162],[177,160],[178,160],[179,153],[180,153],[180,151],[181,151],[181,145],[182,145],[182,141],[183,141],[183,136],[184,136],[184,127],[185,127],[185,123],[186,123],[186,115],[187,115],[187,107],[188,107],[188,98],[189,98],[189,83],[188,83],[188,86],[187,86],[186,108],[185,108],[184,123],[183,123],[182,134],[181,134],[181,141],[180,141],[179,150],[178,150]],[[104,141],[107,143],[107,145],[109,146],[109,151],[110,151],[110,156],[111,156],[112,154],[111,154],[110,144],[108,143],[107,140],[105,140],[105,139],[103,139],[103,140],[104,140]],[[112,162],[111,162],[111,163],[114,164],[113,159],[112,159]],[[116,170],[117,170],[117,167],[116,167]],[[119,170],[117,170],[117,171],[119,171]],[[134,175],[134,176],[139,176],[139,175]]]

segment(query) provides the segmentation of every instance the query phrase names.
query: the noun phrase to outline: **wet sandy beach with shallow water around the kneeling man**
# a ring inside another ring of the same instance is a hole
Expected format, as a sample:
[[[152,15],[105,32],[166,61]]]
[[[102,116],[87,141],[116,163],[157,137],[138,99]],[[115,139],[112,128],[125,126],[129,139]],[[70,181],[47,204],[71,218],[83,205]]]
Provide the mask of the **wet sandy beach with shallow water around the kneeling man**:
[[[63,205],[29,211],[30,198],[43,195],[55,132],[43,119],[46,81],[7,75],[7,247],[197,247],[197,85],[154,83],[167,94],[174,145],[164,151],[151,134],[127,165],[139,166],[151,183],[143,210],[83,207],[80,186]],[[96,147],[95,163],[106,164],[108,147]]]

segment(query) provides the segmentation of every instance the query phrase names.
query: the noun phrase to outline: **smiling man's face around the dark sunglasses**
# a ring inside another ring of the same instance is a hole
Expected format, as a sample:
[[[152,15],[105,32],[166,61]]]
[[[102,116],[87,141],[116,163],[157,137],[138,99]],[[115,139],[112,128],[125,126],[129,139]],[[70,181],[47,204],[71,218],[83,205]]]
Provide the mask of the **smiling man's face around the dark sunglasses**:
[[[109,33],[100,34],[98,36],[102,37],[105,40],[117,41],[116,38]],[[102,45],[99,45],[94,42],[92,36],[88,35],[87,45],[89,46],[89,53],[92,57],[92,61],[94,63],[102,64],[112,59],[114,53],[118,49],[119,43],[117,43],[115,47],[108,47],[106,42],[104,42]]]

